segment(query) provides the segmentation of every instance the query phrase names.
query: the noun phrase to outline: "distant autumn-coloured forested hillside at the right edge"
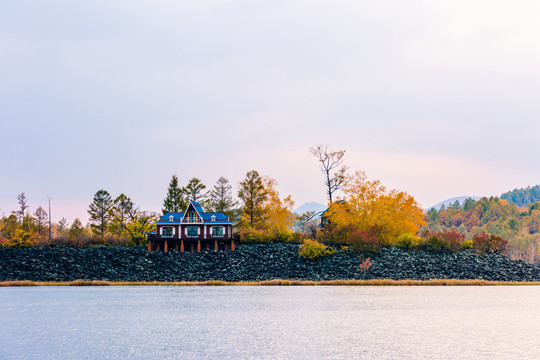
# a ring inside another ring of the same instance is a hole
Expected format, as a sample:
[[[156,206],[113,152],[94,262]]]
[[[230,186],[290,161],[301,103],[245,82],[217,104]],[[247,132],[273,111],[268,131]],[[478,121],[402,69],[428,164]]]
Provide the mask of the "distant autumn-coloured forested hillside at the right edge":
[[[540,262],[540,202],[518,206],[498,197],[456,201],[448,207],[427,211],[423,231],[453,231],[472,240],[489,233],[508,242],[511,259]]]

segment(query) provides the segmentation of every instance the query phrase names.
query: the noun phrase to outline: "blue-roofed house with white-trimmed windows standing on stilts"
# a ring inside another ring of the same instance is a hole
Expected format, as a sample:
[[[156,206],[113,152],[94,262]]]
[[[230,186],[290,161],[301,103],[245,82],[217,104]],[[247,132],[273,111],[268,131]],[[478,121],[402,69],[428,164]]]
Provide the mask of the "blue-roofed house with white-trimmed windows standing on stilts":
[[[219,212],[204,212],[195,201],[190,201],[183,213],[166,213],[160,217],[156,234],[148,236],[148,252],[234,250],[236,245],[229,218]]]

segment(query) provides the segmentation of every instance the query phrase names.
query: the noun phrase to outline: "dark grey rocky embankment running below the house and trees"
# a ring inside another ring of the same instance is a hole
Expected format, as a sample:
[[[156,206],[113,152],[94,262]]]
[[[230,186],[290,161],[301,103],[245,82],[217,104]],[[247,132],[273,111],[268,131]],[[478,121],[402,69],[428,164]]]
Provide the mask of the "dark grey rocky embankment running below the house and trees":
[[[243,244],[237,251],[152,252],[144,247],[0,248],[0,281],[257,281],[270,279],[484,279],[540,281],[540,267],[470,252],[428,254],[384,249],[363,272],[362,257],[338,251],[320,261],[298,257],[298,244]]]

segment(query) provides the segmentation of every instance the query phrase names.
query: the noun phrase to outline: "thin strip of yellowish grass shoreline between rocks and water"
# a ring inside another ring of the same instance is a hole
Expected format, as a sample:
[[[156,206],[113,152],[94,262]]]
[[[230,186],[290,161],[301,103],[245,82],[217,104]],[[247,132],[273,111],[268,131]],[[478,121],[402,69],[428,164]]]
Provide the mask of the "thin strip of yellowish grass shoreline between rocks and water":
[[[491,281],[482,279],[431,279],[431,280],[263,280],[263,281],[0,281],[0,287],[28,286],[539,286],[539,281]]]

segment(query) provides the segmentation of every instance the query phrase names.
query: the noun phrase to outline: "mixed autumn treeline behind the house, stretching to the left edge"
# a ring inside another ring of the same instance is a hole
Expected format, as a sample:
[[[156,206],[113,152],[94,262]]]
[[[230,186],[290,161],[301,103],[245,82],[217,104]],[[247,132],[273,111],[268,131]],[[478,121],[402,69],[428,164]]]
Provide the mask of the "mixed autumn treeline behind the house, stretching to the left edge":
[[[191,178],[180,186],[174,175],[163,200],[162,213],[183,212],[189,201],[196,201],[207,212],[222,212],[228,216],[244,241],[301,241],[304,236],[293,231],[294,202],[290,195],[281,198],[277,185],[275,179],[252,170],[238,184],[237,196],[234,196],[232,185],[224,177],[206,191],[200,179]],[[19,195],[18,201],[19,209],[0,220],[2,246],[144,245],[159,219],[159,214],[141,210],[127,195],[122,193],[113,198],[104,189],[94,194],[86,225],[80,219],[70,225],[65,218],[53,223],[41,206],[30,213],[24,193]]]

